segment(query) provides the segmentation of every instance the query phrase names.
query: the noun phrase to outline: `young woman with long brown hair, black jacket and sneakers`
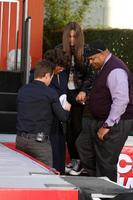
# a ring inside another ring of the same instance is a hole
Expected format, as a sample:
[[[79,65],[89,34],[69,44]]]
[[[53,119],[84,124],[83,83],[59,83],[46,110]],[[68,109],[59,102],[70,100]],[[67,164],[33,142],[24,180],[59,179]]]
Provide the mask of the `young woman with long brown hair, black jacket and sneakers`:
[[[82,130],[86,92],[90,90],[93,82],[91,70],[84,62],[84,49],[84,34],[80,25],[76,22],[70,22],[65,26],[62,44],[55,48],[54,60],[51,60],[64,67],[64,70],[54,76],[51,86],[55,87],[60,95],[65,93],[68,102],[72,105],[65,130],[68,152],[71,158],[71,162],[65,167],[65,171],[70,175],[79,175],[83,170],[75,142]],[[48,52],[46,55],[48,56]]]

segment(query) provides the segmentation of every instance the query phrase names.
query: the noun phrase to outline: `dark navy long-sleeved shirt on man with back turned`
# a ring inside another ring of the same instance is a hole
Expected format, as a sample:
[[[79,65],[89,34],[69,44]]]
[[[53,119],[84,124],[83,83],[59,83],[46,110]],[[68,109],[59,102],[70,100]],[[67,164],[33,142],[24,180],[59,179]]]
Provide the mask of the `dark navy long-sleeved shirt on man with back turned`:
[[[69,116],[69,112],[62,108],[56,91],[41,81],[34,80],[22,87],[18,92],[17,105],[18,134],[21,132],[49,134],[53,114],[60,121],[66,121]]]

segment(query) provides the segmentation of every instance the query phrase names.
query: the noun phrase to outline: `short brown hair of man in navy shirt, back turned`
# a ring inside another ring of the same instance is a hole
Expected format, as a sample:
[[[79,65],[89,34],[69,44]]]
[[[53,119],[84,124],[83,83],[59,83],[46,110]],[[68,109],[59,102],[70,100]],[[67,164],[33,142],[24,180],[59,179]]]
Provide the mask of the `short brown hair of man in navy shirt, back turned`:
[[[47,73],[50,73],[50,75],[53,74],[55,69],[55,65],[48,61],[48,60],[42,60],[37,63],[35,72],[34,72],[34,78],[42,78],[44,77]]]

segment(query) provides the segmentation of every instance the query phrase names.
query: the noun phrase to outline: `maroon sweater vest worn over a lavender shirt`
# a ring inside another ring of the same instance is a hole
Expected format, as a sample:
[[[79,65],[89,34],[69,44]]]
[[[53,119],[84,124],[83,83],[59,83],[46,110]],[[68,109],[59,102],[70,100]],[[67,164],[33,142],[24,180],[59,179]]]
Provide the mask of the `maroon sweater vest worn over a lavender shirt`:
[[[103,69],[98,74],[98,77],[96,78],[91,90],[89,107],[92,116],[96,119],[106,120],[109,115],[112,98],[106,83],[109,73],[116,68],[121,68],[127,72],[129,83],[130,102],[121,118],[133,119],[133,87],[131,73],[129,72],[127,66],[122,62],[122,60],[114,55],[111,56],[111,58],[107,61]]]

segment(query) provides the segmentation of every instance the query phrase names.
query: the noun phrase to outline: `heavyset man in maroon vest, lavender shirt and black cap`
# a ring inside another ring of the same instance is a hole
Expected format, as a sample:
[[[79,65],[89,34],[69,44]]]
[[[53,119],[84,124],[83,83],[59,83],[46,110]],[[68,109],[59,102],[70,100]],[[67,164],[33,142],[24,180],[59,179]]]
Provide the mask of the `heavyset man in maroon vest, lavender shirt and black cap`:
[[[90,43],[87,55],[98,75],[89,96],[92,119],[84,119],[76,145],[90,176],[117,181],[119,154],[133,125],[131,74],[102,41]]]

